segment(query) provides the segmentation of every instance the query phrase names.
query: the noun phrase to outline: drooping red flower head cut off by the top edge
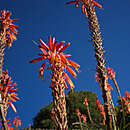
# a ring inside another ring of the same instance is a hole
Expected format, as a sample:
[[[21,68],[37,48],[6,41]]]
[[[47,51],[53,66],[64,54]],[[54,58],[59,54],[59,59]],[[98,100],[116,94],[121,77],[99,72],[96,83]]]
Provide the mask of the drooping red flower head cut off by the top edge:
[[[95,2],[94,0],[74,0],[74,1],[67,2],[66,4],[73,4],[73,3],[75,4],[76,8],[78,8],[79,4],[81,4],[81,12],[85,14],[86,17],[88,17],[86,6],[93,4],[99,8],[102,8],[102,6],[97,2]]]

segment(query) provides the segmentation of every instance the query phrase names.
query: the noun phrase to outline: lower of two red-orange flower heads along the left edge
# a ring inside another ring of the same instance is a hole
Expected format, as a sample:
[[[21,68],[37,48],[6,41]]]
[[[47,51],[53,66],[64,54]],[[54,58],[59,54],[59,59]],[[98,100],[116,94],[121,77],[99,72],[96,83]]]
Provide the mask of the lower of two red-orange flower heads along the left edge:
[[[17,88],[15,88],[15,86],[16,83],[13,83],[13,81],[11,81],[11,77],[8,75],[8,71],[3,71],[2,81],[0,83],[0,91],[5,113],[7,112],[7,105],[11,106],[13,111],[16,112],[16,108],[12,103],[16,102],[16,100],[19,100],[17,97],[18,94],[16,94]]]

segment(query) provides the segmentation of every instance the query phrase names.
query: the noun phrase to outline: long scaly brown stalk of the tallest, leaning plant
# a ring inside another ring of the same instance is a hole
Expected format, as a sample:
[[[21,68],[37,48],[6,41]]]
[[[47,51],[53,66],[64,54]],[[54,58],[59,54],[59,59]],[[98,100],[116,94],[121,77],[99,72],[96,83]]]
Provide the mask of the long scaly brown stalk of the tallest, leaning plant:
[[[105,59],[104,59],[104,52],[102,47],[102,39],[100,33],[100,27],[98,24],[98,19],[96,16],[95,8],[93,4],[86,5],[86,10],[88,13],[88,24],[90,29],[90,35],[92,37],[93,46],[95,48],[95,57],[97,61],[96,71],[98,74],[99,85],[102,90],[102,96],[104,100],[104,109],[106,113],[106,127],[107,130],[115,130],[115,115],[113,110],[111,110],[111,95],[107,89],[107,77],[106,77],[106,67],[105,67]],[[113,118],[114,117],[114,118]],[[113,120],[114,119],[114,120]]]

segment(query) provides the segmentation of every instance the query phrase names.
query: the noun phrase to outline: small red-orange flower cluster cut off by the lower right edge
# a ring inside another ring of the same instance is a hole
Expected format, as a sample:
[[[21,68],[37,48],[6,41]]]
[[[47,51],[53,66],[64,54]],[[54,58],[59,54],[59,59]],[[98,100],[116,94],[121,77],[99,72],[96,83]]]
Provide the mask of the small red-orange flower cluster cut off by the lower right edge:
[[[126,113],[130,114],[130,93],[128,91],[125,92],[125,96],[122,97],[122,100]]]

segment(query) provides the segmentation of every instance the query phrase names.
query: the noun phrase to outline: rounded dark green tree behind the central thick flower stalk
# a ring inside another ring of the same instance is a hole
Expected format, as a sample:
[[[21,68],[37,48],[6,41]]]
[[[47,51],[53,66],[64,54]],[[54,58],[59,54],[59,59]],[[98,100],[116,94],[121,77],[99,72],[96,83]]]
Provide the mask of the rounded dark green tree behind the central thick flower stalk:
[[[69,129],[80,129],[79,120],[75,110],[78,108],[81,114],[85,114],[87,116],[87,125],[89,128],[94,128],[94,126],[90,123],[88,118],[88,113],[86,110],[86,106],[83,104],[84,98],[88,98],[88,104],[90,108],[90,113],[92,119],[95,123],[101,123],[102,117],[96,108],[96,98],[97,95],[91,91],[80,91],[74,92],[70,91],[66,95],[66,108],[67,108],[67,118],[68,118],[68,127]],[[44,108],[40,109],[40,112],[36,115],[33,120],[34,128],[44,128],[44,129],[53,129],[55,128],[54,122],[51,119],[51,109],[53,104],[49,104]],[[85,124],[83,124],[85,126]]]

